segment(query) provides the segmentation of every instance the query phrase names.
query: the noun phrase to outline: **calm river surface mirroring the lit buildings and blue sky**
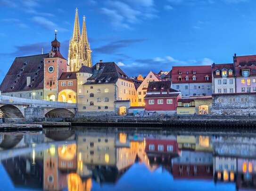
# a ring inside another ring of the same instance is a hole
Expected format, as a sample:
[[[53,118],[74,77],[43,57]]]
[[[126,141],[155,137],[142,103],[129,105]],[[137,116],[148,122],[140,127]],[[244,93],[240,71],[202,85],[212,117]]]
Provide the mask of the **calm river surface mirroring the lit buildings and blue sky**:
[[[205,190],[256,189],[256,138],[91,130],[1,133],[0,165],[12,183],[1,187],[6,190],[188,190],[190,183],[198,183],[198,190],[202,185]]]

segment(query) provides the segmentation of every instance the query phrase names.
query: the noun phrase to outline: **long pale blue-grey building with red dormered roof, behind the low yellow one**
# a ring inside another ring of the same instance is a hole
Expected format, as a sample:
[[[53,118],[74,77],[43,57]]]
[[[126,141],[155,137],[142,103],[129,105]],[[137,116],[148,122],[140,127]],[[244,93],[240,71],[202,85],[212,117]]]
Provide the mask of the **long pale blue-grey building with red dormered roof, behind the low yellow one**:
[[[182,96],[211,95],[211,66],[173,66],[172,88]]]

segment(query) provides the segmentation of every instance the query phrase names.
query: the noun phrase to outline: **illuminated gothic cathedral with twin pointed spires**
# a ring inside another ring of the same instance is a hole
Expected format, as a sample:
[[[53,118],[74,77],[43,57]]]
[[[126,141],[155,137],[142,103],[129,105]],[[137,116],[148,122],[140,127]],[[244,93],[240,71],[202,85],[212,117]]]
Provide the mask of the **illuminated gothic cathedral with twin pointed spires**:
[[[71,72],[78,71],[83,65],[91,67],[91,48],[87,38],[85,16],[83,16],[82,35],[78,19],[78,9],[75,9],[73,37],[69,43],[68,66]]]

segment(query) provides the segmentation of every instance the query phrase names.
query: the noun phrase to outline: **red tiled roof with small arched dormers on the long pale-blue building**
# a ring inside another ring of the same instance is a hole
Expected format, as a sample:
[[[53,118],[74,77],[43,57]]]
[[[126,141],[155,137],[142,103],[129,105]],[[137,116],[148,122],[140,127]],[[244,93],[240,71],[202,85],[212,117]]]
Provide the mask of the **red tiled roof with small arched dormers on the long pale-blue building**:
[[[212,66],[173,66],[172,69],[172,82],[173,83],[211,83],[212,82]],[[182,74],[179,74],[182,72]],[[196,72],[194,75],[193,72]],[[188,73],[188,74],[187,74]],[[179,76],[182,76],[182,81],[179,81]],[[189,80],[186,81],[185,77],[188,76]],[[193,81],[192,77],[196,76],[197,80]],[[208,76],[209,80],[205,80]]]

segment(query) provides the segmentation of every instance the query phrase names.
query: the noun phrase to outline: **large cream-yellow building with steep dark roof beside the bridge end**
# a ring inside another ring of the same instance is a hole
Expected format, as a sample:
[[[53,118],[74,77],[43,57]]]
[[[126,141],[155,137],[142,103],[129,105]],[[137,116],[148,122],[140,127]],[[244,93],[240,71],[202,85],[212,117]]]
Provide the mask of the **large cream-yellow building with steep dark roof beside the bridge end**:
[[[78,93],[81,97],[78,100],[80,116],[126,115],[130,106],[138,105],[133,81],[115,62],[94,65],[92,76],[82,86],[78,87],[78,92],[81,90]]]

